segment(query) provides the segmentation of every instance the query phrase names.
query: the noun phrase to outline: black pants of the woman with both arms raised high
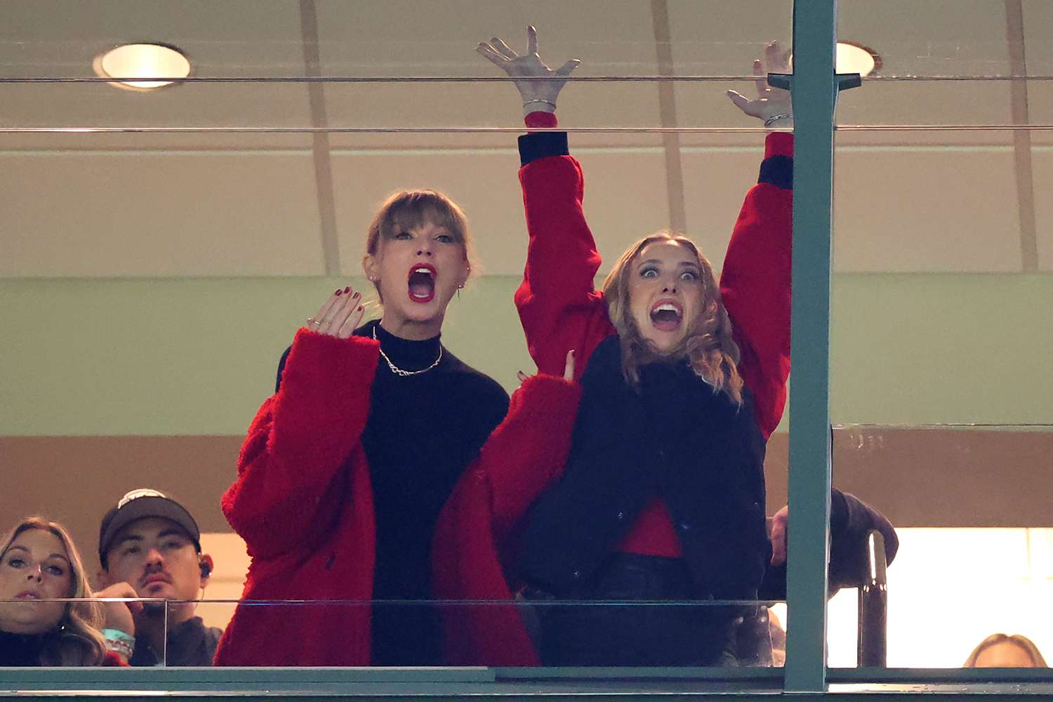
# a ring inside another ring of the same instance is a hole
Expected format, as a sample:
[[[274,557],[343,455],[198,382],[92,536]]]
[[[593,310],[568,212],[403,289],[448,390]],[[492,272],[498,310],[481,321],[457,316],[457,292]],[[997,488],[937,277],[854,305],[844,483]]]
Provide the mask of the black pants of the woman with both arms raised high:
[[[736,665],[733,629],[739,613],[692,602],[694,589],[681,559],[614,554],[589,585],[559,598],[581,603],[561,604],[533,590],[541,660],[545,665]]]

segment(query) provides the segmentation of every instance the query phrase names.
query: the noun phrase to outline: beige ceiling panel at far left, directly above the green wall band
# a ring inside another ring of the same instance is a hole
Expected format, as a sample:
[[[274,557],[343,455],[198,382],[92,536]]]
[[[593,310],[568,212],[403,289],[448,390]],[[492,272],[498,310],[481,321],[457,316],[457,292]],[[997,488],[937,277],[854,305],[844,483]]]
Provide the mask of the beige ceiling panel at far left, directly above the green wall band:
[[[0,276],[324,273],[314,166],[282,154],[6,154]]]

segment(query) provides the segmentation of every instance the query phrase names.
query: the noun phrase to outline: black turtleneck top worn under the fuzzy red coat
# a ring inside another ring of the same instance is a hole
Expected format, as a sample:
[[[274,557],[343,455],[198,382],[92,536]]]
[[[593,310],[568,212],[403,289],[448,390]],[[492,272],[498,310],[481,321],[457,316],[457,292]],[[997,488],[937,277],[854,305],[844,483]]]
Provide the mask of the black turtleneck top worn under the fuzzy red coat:
[[[370,462],[376,512],[377,600],[431,598],[431,547],[435,522],[464,467],[479,453],[509,408],[509,396],[492,378],[442,347],[439,337],[409,341],[377,321],[355,330],[376,338],[403,370],[392,372],[381,356],[373,379],[362,445]],[[289,350],[278,366],[278,384]],[[374,665],[441,664],[435,613],[422,605],[374,606]]]

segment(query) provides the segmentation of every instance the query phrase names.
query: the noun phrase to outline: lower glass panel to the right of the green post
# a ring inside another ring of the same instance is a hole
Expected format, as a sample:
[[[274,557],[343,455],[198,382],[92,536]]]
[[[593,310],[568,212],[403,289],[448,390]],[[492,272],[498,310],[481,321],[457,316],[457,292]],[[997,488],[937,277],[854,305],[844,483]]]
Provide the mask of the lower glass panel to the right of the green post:
[[[999,633],[1027,637],[1040,655],[1053,650],[1045,606],[1053,528],[1042,497],[1051,450],[1051,425],[835,428],[834,483],[854,496],[850,514],[861,518],[856,501],[863,500],[895,524],[889,667],[1031,667],[1045,660],[1026,665],[1009,655],[1022,650],[1009,642],[966,663]],[[836,555],[836,527],[833,539]],[[855,665],[843,656],[855,636],[855,599],[842,594],[830,603],[831,666]]]

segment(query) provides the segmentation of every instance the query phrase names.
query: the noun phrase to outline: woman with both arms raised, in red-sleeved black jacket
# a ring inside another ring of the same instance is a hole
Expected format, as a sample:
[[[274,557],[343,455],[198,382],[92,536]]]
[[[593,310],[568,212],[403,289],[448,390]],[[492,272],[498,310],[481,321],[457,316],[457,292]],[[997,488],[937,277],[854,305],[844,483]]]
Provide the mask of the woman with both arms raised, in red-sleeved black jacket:
[[[577,62],[551,71],[500,39],[479,52],[516,78],[528,127],[555,127],[556,98]],[[759,95],[729,97],[767,126],[792,124],[789,95],[764,84],[781,58],[755,62]],[[625,250],[602,290],[582,213],[583,179],[567,135],[519,138],[530,234],[516,293],[541,373],[577,352],[582,396],[563,475],[518,535],[516,577],[542,600],[743,600],[771,559],[764,443],[790,370],[793,137],[768,136],[718,286],[683,236]],[[731,607],[558,606],[540,613],[551,665],[734,664]]]

